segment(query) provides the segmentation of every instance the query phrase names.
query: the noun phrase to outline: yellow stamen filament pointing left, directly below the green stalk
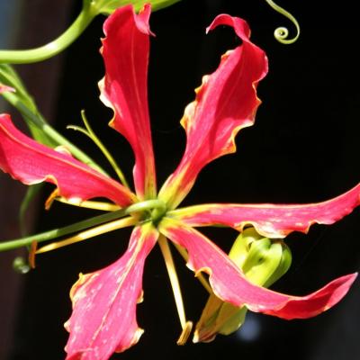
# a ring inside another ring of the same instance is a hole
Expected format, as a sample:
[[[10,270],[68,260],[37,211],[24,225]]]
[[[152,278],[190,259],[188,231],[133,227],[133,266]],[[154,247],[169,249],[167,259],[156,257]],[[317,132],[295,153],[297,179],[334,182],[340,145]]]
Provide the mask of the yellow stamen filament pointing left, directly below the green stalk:
[[[51,250],[55,250],[56,248],[59,247],[66,247],[67,245],[74,244],[79,241],[83,241],[87,238],[94,238],[95,236],[101,235],[104,232],[110,232],[116,229],[126,228],[128,226],[135,225],[136,221],[137,220],[132,217],[114,220],[106,224],[97,226],[93,229],[87,229],[85,231],[79,232],[78,234],[76,234],[71,238],[66,238],[65,240],[53,242],[44,247],[40,247],[35,254],[45,253]]]

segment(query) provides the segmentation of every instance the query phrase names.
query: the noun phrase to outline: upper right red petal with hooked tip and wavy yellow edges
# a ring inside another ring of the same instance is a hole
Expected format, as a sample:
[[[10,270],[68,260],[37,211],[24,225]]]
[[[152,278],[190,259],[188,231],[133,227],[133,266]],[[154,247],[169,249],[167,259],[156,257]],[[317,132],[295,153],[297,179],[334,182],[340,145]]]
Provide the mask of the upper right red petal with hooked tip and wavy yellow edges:
[[[171,208],[189,193],[203,166],[236,151],[238,130],[254,123],[260,104],[256,88],[266,76],[265,52],[250,42],[244,20],[219,15],[207,31],[218,25],[231,26],[243,43],[222,56],[214,73],[203,76],[195,101],[185,109],[181,121],[187,137],[184,157],[159,193]]]

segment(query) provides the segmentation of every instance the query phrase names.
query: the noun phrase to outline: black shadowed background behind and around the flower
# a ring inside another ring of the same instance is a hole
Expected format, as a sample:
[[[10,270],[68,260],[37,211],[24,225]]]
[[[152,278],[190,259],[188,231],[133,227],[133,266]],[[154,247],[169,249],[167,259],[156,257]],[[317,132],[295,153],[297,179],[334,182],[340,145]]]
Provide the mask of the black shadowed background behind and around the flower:
[[[252,40],[266,50],[269,58],[269,74],[258,87],[263,104],[256,124],[239,133],[237,154],[221,157],[202,171],[186,204],[319,202],[347,191],[359,181],[356,10],[349,1],[342,2],[341,8],[331,7],[329,2],[317,2],[314,7],[310,0],[281,4],[302,26],[302,35],[293,45],[279,44],[273,37],[277,26],[286,25],[292,33],[293,25],[259,0],[184,0],[151,16],[151,28],[157,37],[151,40],[148,92],[159,184],[182,155],[185,137],[179,120],[184,106],[193,100],[193,89],[200,85],[202,75],[214,71],[220,55],[238,44],[234,33],[225,28],[205,36],[204,29],[214,16],[228,13],[247,19]],[[68,22],[78,11],[76,4]],[[39,19],[40,14],[41,9]],[[85,109],[94,129],[130,178],[130,147],[107,128],[111,112],[98,100],[96,83],[103,76],[98,52],[102,23],[103,17],[96,19],[63,55],[56,123],[58,130],[103,162],[91,142],[65,129],[68,123],[79,123],[79,112]],[[46,187],[44,199],[50,189]],[[40,211],[35,230],[52,229],[94,214],[57,203],[49,212]],[[287,244],[293,250],[293,266],[274,288],[303,295],[335,277],[357,271],[359,219],[356,210],[333,226],[316,225],[308,235],[291,235]],[[236,235],[227,229],[206,233],[224,249],[229,249]],[[67,332],[62,324],[71,311],[71,285],[79,272],[94,271],[120,257],[128,238],[129,231],[119,230],[37,257],[37,268],[23,275],[22,300],[8,360],[64,358]],[[187,316],[195,321],[206,293],[183,261],[177,257],[176,261]],[[210,360],[235,355],[338,360],[360,356],[358,281],[344,301],[317,318],[286,321],[250,314],[247,325],[237,334],[219,336],[211,344],[189,342],[184,347],[175,345],[180,326],[157,248],[148,257],[143,287],[145,301],[138,307],[138,321],[146,331],[137,346],[113,359],[157,356]]]

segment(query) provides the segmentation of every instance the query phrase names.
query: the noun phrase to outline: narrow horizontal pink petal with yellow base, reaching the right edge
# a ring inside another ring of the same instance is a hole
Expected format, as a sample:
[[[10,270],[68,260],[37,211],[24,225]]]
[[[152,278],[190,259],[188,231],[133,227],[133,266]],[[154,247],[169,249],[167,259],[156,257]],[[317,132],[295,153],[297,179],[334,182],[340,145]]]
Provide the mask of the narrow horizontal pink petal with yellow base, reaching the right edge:
[[[327,202],[303,205],[211,203],[171,211],[168,216],[190,226],[226,225],[243,229],[251,224],[268,238],[284,238],[292,231],[307,232],[312,224],[332,224],[360,204],[360,184]]]

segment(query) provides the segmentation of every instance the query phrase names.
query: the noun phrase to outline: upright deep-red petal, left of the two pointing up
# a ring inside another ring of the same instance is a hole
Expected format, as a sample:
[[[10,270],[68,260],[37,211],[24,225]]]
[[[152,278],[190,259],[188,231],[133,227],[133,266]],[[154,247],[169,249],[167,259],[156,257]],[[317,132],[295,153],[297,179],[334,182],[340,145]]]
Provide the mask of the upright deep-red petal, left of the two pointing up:
[[[134,182],[139,198],[156,195],[156,175],[148,117],[148,27],[150,6],[139,15],[131,5],[105,21],[103,60],[105,77],[101,99],[112,108],[111,126],[128,139],[135,153]]]

